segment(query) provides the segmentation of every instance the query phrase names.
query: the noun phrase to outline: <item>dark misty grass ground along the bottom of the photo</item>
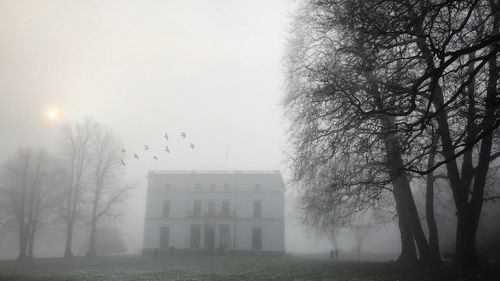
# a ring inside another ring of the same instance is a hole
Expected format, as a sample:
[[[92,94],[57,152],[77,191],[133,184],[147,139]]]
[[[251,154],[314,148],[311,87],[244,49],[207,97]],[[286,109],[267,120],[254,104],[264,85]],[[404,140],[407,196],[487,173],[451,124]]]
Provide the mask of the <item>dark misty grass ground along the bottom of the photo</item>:
[[[500,271],[458,276],[394,263],[292,256],[119,256],[0,262],[0,280],[500,280]]]

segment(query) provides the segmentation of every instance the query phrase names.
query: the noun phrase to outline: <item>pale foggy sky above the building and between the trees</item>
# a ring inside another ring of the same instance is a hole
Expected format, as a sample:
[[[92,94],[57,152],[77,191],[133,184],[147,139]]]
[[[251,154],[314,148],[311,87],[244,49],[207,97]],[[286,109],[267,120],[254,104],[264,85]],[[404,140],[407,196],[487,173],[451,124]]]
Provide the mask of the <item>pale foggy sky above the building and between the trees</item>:
[[[123,218],[127,229],[141,230],[126,233],[132,250],[142,243],[148,170],[273,169],[287,181],[280,102],[292,6],[0,1],[0,160],[26,145],[54,151],[61,125],[85,115],[110,126],[129,151],[149,144],[160,160],[129,160],[124,175],[138,183]],[[45,117],[49,108],[61,112],[57,122]],[[324,240],[306,243],[297,229],[288,219],[287,250],[324,250]]]

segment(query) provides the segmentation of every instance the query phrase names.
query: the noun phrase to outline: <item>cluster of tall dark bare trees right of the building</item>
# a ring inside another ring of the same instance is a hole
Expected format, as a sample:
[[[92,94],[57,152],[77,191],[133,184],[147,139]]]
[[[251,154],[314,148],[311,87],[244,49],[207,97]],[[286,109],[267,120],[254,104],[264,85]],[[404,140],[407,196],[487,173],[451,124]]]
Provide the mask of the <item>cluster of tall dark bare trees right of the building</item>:
[[[309,0],[286,55],[293,180],[306,222],[342,227],[393,203],[400,262],[442,263],[435,184],[456,214],[455,264],[476,235],[499,150],[498,0]],[[425,187],[425,210],[412,186]],[[422,225],[425,214],[427,229]]]

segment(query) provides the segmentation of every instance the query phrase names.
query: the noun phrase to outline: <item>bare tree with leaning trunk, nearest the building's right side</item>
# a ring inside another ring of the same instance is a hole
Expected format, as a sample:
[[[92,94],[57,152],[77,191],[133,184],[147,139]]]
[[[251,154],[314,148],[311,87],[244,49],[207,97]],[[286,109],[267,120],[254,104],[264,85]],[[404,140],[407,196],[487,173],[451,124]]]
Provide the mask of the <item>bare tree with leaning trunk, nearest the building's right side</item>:
[[[399,260],[415,262],[416,243],[420,259],[429,261],[429,246],[404,171],[407,146],[398,133],[398,120],[379,114],[398,100],[387,87],[378,86],[385,74],[378,71],[377,52],[356,41],[344,46],[353,42],[350,30],[335,29],[346,23],[335,18],[338,11],[329,17],[328,8],[327,2],[305,5],[289,47],[286,105],[297,154],[292,161],[295,180],[312,187],[321,176],[318,171],[329,173],[329,180],[341,183],[333,184],[340,191],[327,192],[351,198],[350,204],[358,209],[371,207],[389,190],[401,231]],[[391,82],[402,78],[384,77]]]

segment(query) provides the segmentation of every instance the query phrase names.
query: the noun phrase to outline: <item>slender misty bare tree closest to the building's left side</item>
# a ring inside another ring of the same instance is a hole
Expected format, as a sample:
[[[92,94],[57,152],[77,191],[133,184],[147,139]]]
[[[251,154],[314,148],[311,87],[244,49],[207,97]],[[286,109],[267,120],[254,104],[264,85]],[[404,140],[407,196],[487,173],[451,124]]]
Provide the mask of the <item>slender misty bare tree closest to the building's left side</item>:
[[[120,144],[110,129],[102,125],[96,128],[90,162],[89,200],[91,202],[90,238],[87,256],[95,256],[96,230],[100,219],[119,215],[131,186],[122,186],[119,180]],[[104,231],[104,230],[103,230]]]

